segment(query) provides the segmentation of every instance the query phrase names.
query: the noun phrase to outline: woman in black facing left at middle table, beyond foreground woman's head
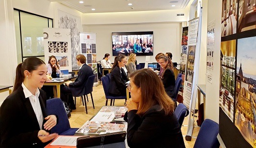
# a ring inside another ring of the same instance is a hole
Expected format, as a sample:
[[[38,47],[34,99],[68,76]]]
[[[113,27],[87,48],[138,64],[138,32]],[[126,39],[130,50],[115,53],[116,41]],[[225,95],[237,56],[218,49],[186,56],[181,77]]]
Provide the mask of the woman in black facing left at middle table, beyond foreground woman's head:
[[[163,81],[163,86],[167,95],[171,98],[174,97],[174,87],[175,87],[175,75],[174,66],[170,57],[163,55],[159,58],[158,63],[160,64],[163,72],[159,75]]]

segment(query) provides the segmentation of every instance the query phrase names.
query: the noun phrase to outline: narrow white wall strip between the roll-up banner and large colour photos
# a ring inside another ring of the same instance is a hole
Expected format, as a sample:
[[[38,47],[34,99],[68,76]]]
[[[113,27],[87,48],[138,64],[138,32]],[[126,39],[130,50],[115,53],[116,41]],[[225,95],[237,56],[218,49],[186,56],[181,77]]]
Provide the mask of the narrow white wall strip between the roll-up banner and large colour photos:
[[[208,0],[208,22],[215,21],[212,84],[206,82],[205,117],[219,123],[221,0]]]

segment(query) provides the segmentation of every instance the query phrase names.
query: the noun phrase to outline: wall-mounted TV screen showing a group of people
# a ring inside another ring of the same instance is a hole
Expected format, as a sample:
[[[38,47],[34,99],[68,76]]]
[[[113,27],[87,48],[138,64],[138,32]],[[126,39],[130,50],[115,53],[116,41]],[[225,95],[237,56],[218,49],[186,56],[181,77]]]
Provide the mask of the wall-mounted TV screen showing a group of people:
[[[112,32],[112,52],[153,55],[153,32]]]

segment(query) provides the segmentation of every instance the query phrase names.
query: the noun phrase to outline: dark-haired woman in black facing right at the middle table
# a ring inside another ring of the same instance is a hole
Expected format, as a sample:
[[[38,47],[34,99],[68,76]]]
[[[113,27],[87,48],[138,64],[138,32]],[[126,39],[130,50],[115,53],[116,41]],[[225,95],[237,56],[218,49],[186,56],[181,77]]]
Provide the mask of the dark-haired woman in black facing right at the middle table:
[[[124,96],[126,95],[126,81],[122,78],[124,71],[122,67],[125,66],[127,62],[126,56],[120,54],[116,57],[115,63],[113,64],[113,69],[111,71],[109,95],[112,96]]]

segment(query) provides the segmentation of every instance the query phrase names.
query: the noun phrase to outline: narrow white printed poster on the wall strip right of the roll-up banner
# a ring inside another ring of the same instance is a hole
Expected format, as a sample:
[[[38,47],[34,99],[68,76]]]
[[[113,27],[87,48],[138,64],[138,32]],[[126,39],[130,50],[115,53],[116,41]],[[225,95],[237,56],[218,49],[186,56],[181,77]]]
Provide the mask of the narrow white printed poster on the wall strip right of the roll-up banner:
[[[211,21],[207,26],[207,56],[206,56],[206,74],[207,81],[212,84],[213,73],[213,53],[214,53],[214,31],[215,21]]]

